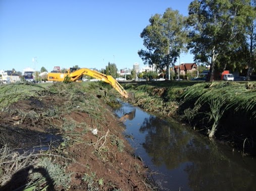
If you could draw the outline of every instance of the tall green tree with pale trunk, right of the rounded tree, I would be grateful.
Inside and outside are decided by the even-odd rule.
[[[214,79],[219,55],[237,49],[245,32],[250,0],[194,0],[189,5],[189,48],[194,59],[211,65],[208,80]]]

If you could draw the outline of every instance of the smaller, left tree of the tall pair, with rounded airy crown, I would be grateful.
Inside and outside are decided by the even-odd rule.
[[[156,14],[149,19],[150,24],[140,34],[146,50],[138,51],[144,64],[156,64],[156,68],[164,69],[176,62],[187,42],[185,20],[171,8],[163,16]]]

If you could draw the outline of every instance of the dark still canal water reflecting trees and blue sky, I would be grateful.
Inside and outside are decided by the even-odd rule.
[[[124,103],[125,135],[161,190],[256,190],[256,161]]]

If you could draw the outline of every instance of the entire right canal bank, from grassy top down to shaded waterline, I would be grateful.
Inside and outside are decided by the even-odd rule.
[[[256,85],[253,82],[133,83],[136,105],[162,116],[178,117],[196,131],[256,154]]]

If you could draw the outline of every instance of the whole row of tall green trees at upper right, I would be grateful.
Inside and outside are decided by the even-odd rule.
[[[140,34],[145,50],[138,54],[144,64],[164,69],[190,51],[196,63],[211,66],[208,80],[225,69],[249,79],[256,66],[255,5],[255,0],[194,0],[188,17],[168,8],[149,19]]]

